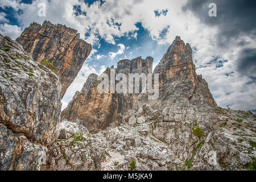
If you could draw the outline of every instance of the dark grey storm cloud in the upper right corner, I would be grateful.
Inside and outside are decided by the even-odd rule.
[[[209,3],[216,3],[217,16],[210,17]],[[183,6],[183,11],[192,11],[201,22],[218,27],[217,45],[221,48],[241,47],[237,57],[237,68],[243,75],[255,74],[255,49],[243,48],[256,39],[256,1],[255,0],[192,0]],[[251,40],[238,40],[241,35]],[[254,68],[254,70],[253,70]]]

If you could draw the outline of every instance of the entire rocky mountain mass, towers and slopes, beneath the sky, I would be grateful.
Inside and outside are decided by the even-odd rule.
[[[159,74],[156,100],[99,93],[92,73],[62,112],[91,46],[50,22],[16,41],[0,36],[1,170],[255,170],[256,115],[217,106],[179,36],[154,71],[137,57],[104,72]]]

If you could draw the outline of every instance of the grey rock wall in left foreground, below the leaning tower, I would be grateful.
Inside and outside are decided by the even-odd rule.
[[[39,169],[58,137],[59,77],[0,35],[0,169]]]

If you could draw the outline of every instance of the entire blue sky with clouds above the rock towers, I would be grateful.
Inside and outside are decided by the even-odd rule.
[[[210,17],[210,2],[2,0],[0,33],[16,39],[30,23],[49,20],[75,28],[92,44],[92,53],[63,98],[63,108],[90,73],[138,56],[153,57],[155,66],[179,35],[191,44],[197,74],[207,80],[218,105],[256,109],[256,27],[250,17],[256,3],[214,0],[217,17]],[[46,16],[38,16],[39,3],[46,5]],[[237,14],[239,7],[243,9]]]

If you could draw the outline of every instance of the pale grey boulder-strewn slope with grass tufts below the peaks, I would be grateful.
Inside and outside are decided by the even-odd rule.
[[[256,125],[255,115],[222,110],[220,115],[242,122],[229,119],[225,126],[217,122],[213,131],[203,128],[201,136],[193,132],[201,126],[196,121],[159,122],[151,119],[151,113],[163,115],[161,110],[129,111],[129,121],[121,125],[115,121],[97,134],[77,130],[68,139],[57,140],[42,169],[129,170],[134,161],[135,170],[245,170],[255,160],[256,135],[250,131]],[[142,118],[143,123],[130,125]],[[242,130],[235,131],[239,123]]]

